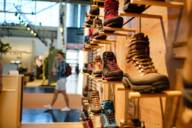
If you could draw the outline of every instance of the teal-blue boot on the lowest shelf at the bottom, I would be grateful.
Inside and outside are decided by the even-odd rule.
[[[106,100],[101,104],[101,123],[103,128],[117,128],[113,101]]]

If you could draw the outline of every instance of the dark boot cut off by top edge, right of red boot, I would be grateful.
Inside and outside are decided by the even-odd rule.
[[[131,13],[142,13],[147,9],[147,6],[145,5],[139,5],[139,4],[131,4],[131,0],[125,0],[123,10],[125,12],[131,12]]]

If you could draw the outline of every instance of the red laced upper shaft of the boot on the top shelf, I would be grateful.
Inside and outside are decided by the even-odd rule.
[[[113,15],[118,16],[118,8],[119,8],[119,2],[117,0],[105,0],[104,3],[105,8],[105,16],[107,15]]]

